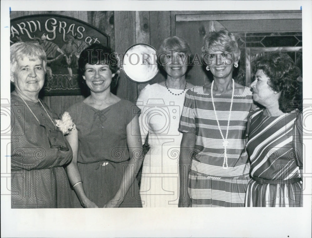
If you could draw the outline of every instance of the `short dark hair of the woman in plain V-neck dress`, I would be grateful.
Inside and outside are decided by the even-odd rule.
[[[83,80],[82,76],[85,74],[86,64],[107,64],[115,76],[111,82],[111,88],[117,85],[119,77],[119,61],[117,54],[107,46],[102,44],[91,44],[89,47],[84,49],[78,59],[78,74],[79,80]]]

